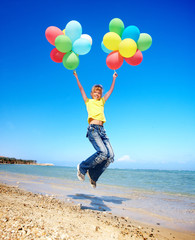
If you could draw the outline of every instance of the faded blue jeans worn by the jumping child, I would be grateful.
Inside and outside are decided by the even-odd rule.
[[[89,175],[97,181],[111,162],[114,162],[114,152],[103,126],[91,124],[87,128],[87,137],[97,151],[80,164],[80,172]]]

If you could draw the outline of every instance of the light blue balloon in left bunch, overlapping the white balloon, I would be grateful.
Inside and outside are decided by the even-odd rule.
[[[79,38],[73,43],[72,50],[79,55],[85,55],[91,50],[91,43],[85,38]]]

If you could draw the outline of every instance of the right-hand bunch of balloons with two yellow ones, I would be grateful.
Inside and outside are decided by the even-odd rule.
[[[147,33],[141,33],[136,26],[124,27],[119,18],[114,18],[109,23],[110,32],[106,33],[101,43],[102,50],[109,53],[106,58],[107,66],[116,70],[125,61],[136,66],[142,62],[142,52],[152,44],[152,38]]]

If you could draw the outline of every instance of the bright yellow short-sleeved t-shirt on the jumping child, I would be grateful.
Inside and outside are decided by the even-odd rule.
[[[105,104],[104,97],[101,98],[100,100],[87,98],[85,104],[88,112],[88,122],[90,118],[100,120],[104,123],[106,122],[106,118],[104,116],[104,104]]]

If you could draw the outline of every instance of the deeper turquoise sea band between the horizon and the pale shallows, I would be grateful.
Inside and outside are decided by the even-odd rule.
[[[77,181],[76,167],[2,164],[0,171]],[[195,197],[195,171],[107,169],[99,183]]]

